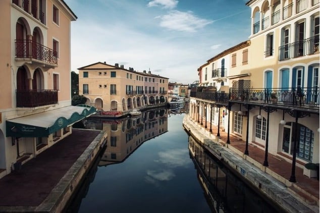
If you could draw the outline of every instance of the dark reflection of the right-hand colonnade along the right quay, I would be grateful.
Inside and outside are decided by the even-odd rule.
[[[189,153],[212,212],[279,212],[189,136]]]

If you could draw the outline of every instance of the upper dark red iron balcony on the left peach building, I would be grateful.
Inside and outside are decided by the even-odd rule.
[[[16,59],[37,60],[57,66],[57,51],[32,40],[16,40]]]

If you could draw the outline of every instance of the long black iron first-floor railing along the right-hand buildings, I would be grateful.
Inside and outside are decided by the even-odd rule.
[[[290,88],[230,88],[229,93],[220,92],[190,92],[190,97],[216,102],[245,101],[270,104],[293,105],[299,107],[319,106],[319,87]]]

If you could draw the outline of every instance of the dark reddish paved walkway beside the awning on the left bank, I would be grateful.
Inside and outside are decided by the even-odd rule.
[[[4,206],[38,206],[99,133],[72,129],[71,135],[22,165],[20,171],[0,179],[0,211]]]

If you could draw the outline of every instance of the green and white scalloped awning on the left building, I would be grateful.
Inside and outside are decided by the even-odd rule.
[[[87,105],[68,106],[6,121],[7,137],[48,137],[62,128],[95,113],[96,109]]]

